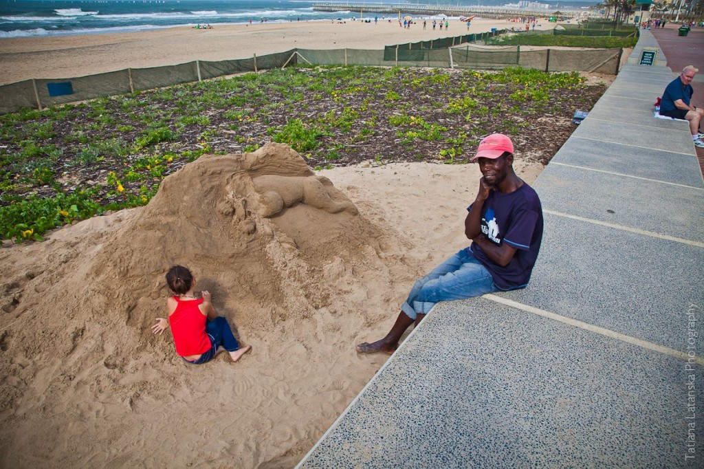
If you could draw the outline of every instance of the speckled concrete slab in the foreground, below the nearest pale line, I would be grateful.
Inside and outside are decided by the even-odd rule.
[[[494,301],[441,304],[298,467],[684,468],[683,374]]]

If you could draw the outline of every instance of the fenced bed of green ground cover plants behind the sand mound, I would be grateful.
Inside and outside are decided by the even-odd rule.
[[[593,39],[593,38],[589,38]],[[605,85],[577,73],[292,67],[0,116],[0,237],[144,205],[203,154],[284,142],[312,168],[467,163],[491,132],[543,163]]]

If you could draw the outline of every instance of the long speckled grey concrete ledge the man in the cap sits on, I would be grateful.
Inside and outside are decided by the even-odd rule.
[[[672,77],[624,66],[534,185],[529,287],[437,306],[298,467],[704,467],[704,182],[653,118]]]

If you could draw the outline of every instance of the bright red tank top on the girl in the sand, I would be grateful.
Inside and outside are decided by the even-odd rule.
[[[179,356],[204,354],[213,346],[206,334],[206,315],[198,308],[204,300],[182,300],[178,296],[174,299],[178,304],[169,316],[169,325],[176,353]]]

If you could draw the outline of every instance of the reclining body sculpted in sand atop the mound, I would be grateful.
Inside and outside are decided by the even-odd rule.
[[[327,177],[261,175],[252,182],[260,194],[260,214],[266,218],[296,204],[307,204],[327,213],[358,213],[352,202],[332,199],[327,187],[333,190],[334,187]]]

